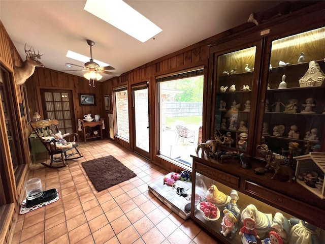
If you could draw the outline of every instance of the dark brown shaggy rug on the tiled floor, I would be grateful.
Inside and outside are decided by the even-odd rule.
[[[98,192],[137,176],[113,156],[90,160],[81,165]]]

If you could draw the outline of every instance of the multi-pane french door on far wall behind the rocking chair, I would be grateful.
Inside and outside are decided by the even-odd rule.
[[[57,119],[63,133],[76,132],[71,90],[41,89],[44,119]]]

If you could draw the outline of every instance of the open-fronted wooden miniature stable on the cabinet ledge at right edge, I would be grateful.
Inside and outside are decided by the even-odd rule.
[[[325,153],[309,153],[297,160],[297,182],[321,199],[325,199]],[[307,177],[311,175],[311,177]]]

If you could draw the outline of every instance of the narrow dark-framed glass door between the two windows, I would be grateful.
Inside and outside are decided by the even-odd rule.
[[[150,159],[148,84],[142,83],[132,86],[132,94],[135,121],[134,151]]]

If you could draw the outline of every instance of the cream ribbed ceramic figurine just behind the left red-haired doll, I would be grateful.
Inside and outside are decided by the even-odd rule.
[[[264,236],[270,230],[272,214],[265,214],[259,211],[255,205],[250,204],[241,213],[242,220],[245,220],[247,217],[255,220],[255,230],[258,235]]]

